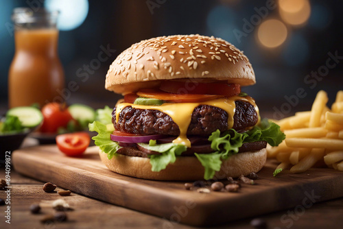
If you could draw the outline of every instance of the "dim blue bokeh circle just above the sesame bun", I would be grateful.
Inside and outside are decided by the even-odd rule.
[[[237,27],[235,21],[236,14],[233,10],[224,5],[218,5],[211,9],[206,23],[213,36],[228,40],[233,45],[239,45],[233,34],[233,30]]]

